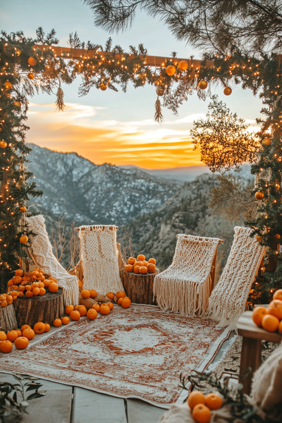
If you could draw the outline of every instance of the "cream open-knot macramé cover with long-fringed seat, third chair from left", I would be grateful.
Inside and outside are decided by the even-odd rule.
[[[154,279],[153,293],[162,310],[183,316],[205,315],[219,242],[219,238],[177,235],[172,264]]]

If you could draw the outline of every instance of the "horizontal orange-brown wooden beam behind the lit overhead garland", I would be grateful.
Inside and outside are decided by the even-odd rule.
[[[97,57],[103,58],[106,55],[106,52],[96,52],[95,50],[85,50],[85,49],[71,49],[70,47],[50,47],[50,46],[44,46],[44,45],[39,45],[36,44],[33,49],[39,48],[41,50],[52,50],[52,52],[54,52],[55,57],[64,57],[66,59],[90,59],[91,57],[93,57],[94,55],[96,55]],[[131,55],[133,58],[135,57],[134,55]],[[115,54],[115,59],[119,60],[120,58],[122,58],[123,55],[116,53]],[[142,56],[140,55],[140,58],[142,58]],[[197,69],[200,68],[200,63],[201,60],[196,60],[196,59],[185,59],[185,58],[169,58],[170,61],[172,62],[172,64],[176,64],[179,63],[181,60],[186,60],[186,62],[188,62],[189,66],[193,66],[193,68]],[[162,57],[162,56],[146,56],[146,62],[144,62],[144,64],[146,64],[147,66],[156,66],[156,67],[165,67],[166,66],[166,61],[167,58],[166,57]],[[207,60],[207,66],[212,67],[214,64],[214,60]]]

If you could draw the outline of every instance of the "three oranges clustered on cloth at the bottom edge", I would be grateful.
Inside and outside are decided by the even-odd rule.
[[[222,406],[222,399],[215,393],[204,396],[200,391],[192,391],[187,401],[197,423],[208,423],[211,420],[211,410],[218,410]]]

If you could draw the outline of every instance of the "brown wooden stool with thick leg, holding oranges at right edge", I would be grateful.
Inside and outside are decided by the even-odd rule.
[[[238,320],[238,335],[243,336],[239,382],[243,385],[243,393],[251,392],[252,377],[257,368],[261,365],[261,341],[281,342],[282,335],[277,332],[268,332],[268,330],[258,327],[252,321],[252,311],[245,311]],[[241,377],[247,369],[251,371],[247,377]]]

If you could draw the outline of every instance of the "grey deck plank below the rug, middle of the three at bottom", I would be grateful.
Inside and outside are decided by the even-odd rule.
[[[72,423],[127,423],[124,400],[74,387]]]

